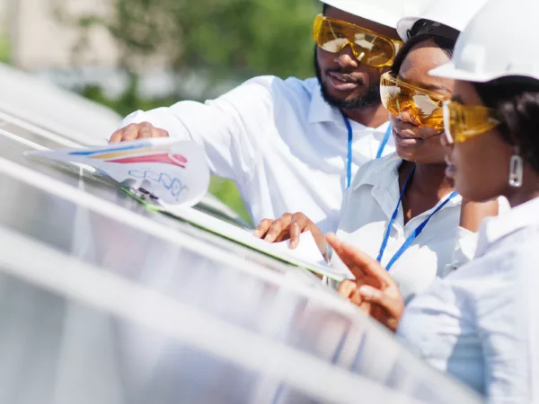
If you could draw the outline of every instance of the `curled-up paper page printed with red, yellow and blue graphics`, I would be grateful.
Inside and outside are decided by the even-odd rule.
[[[120,184],[146,189],[172,205],[194,206],[208,192],[208,159],[204,150],[191,141],[155,138],[24,155],[89,165]]]

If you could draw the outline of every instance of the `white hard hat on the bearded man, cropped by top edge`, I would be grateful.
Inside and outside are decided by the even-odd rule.
[[[391,28],[405,15],[415,15],[432,0],[322,0],[344,12]]]

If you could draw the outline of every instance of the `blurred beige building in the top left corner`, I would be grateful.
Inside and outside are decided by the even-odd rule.
[[[84,49],[77,27],[58,19],[64,15],[110,13],[112,0],[0,0],[1,29],[9,41],[10,63],[53,83],[74,89],[85,83],[101,83],[111,93],[120,92],[125,79],[116,73],[119,50],[102,27],[89,31]]]

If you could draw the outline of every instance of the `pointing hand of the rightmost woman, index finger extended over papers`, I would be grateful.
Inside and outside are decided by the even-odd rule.
[[[356,279],[339,285],[340,295],[356,304],[363,312],[395,331],[404,312],[399,286],[376,259],[340,242],[334,234],[327,241]]]

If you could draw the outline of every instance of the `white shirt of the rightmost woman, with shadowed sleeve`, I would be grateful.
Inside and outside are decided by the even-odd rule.
[[[406,308],[398,334],[490,403],[539,402],[539,198],[483,222],[476,257]]]

